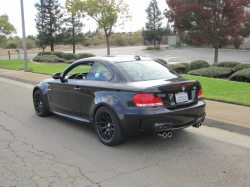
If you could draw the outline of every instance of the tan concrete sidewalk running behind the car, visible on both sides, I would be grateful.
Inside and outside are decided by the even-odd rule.
[[[0,77],[37,84],[51,75],[0,68]],[[205,125],[250,135],[250,107],[206,100]]]

